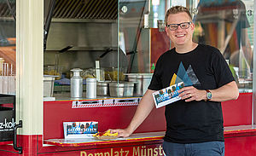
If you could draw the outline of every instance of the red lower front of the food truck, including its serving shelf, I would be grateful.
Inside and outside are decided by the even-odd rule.
[[[129,99],[129,98],[128,98]],[[44,136],[20,136],[24,155],[113,156],[163,155],[161,143],[166,130],[164,108],[154,109],[131,138],[115,141],[63,140],[64,121],[98,121],[99,131],[125,128],[140,98],[44,102]],[[90,102],[89,102],[90,103]],[[224,112],[225,156],[252,156],[256,153],[256,130],[252,123],[252,94],[222,103]],[[19,155],[11,145],[1,145],[0,155]]]

